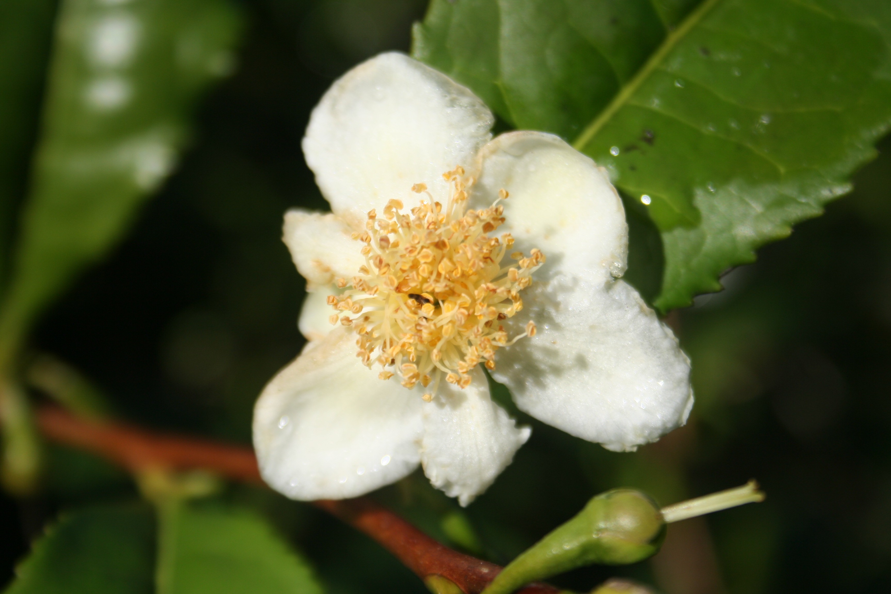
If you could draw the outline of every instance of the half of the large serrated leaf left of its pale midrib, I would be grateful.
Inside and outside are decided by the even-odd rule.
[[[413,55],[513,126],[573,138],[695,0],[433,0]]]

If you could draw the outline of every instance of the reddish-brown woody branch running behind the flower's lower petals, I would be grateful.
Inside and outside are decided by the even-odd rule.
[[[49,439],[98,454],[132,473],[148,468],[200,468],[236,481],[263,484],[257,459],[249,448],[83,419],[54,406],[37,411],[37,425]],[[454,582],[465,594],[478,594],[502,569],[449,549],[366,497],[313,504],[371,536],[422,580],[438,575]],[[536,583],[518,594],[559,592],[547,584]]]

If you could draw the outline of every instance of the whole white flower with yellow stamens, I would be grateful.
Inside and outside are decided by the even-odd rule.
[[[491,140],[493,121],[399,53],[313,111],[303,150],[333,214],[285,216],[310,342],[257,402],[274,489],[354,497],[421,463],[467,505],[530,433],[492,402],[482,363],[520,410],[610,450],[687,419],[687,358],[617,280],[627,225],[607,175],[551,134]]]

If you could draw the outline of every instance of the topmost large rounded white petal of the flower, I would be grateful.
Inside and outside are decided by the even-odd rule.
[[[382,53],[331,85],[303,152],[331,210],[364,221],[389,199],[416,204],[414,183],[445,201],[442,174],[472,167],[493,122],[466,87],[404,54]]]

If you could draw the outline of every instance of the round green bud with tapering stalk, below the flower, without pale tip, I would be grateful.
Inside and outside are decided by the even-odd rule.
[[[483,590],[509,594],[523,584],[594,563],[625,565],[656,554],[666,523],[656,503],[633,489],[601,493],[581,512],[514,559]]]

